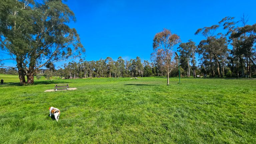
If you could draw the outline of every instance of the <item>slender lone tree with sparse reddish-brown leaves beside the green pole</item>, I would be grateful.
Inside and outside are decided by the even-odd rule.
[[[180,37],[172,34],[170,30],[163,29],[155,35],[153,39],[153,50],[151,54],[153,60],[161,63],[167,73],[167,85],[169,85],[169,73],[173,70],[175,63],[172,60],[173,47],[181,42]]]

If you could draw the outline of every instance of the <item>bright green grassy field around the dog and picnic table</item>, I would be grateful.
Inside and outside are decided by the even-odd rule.
[[[0,75],[0,143],[256,143],[256,80]],[[77,90],[44,92],[54,83]],[[59,122],[48,107],[60,109]]]

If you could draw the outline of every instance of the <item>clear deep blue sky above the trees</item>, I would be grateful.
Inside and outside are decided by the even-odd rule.
[[[161,0],[69,0],[66,3],[75,13],[76,28],[86,49],[87,61],[111,57],[117,60],[150,60],[152,40],[163,28],[197,44],[203,39],[195,36],[198,28],[212,26],[226,16],[240,20],[249,16],[248,24],[256,21],[256,1],[161,1]],[[56,63],[56,67],[68,62]],[[6,63],[14,65],[11,62]]]

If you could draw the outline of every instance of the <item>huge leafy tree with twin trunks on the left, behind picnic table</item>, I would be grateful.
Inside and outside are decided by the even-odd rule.
[[[1,50],[15,60],[20,83],[48,63],[79,57],[84,48],[67,23],[74,13],[60,0],[4,0],[0,12]]]

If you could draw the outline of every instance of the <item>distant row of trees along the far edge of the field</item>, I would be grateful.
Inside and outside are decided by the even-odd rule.
[[[56,75],[64,78],[148,77],[164,75],[161,69],[148,61],[142,62],[140,57],[130,61],[123,60],[122,57],[119,57],[117,61],[110,57],[98,61],[84,61],[80,59],[79,62],[72,61],[59,67],[58,70],[52,70]]]

